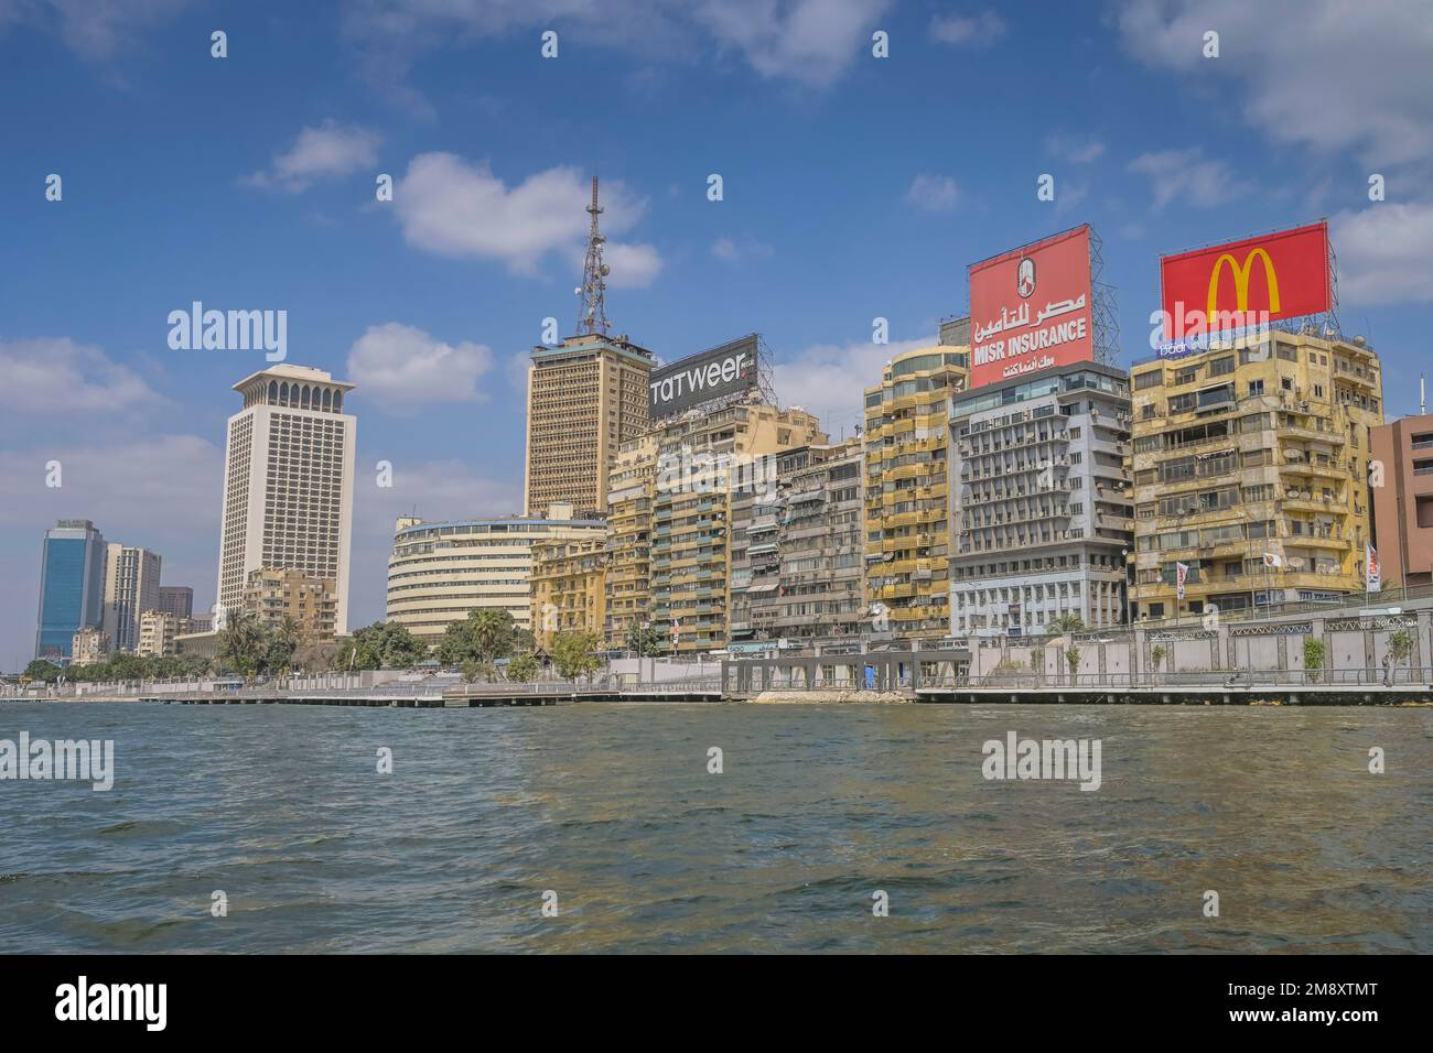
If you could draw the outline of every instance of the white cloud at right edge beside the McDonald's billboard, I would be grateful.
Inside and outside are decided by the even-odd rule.
[[[1433,301],[1433,203],[1379,203],[1330,221],[1340,304]]]

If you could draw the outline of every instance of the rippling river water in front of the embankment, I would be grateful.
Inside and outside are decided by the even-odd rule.
[[[1010,729],[1102,739],[1102,788],[986,782]],[[0,782],[10,951],[1433,951],[1420,709],[0,705],[20,731],[118,776]]]

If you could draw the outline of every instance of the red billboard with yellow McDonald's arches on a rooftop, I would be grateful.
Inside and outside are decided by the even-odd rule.
[[[1330,309],[1328,223],[1159,258],[1165,335],[1242,330]]]

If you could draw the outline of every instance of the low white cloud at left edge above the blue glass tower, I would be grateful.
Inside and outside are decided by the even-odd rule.
[[[6,411],[0,417],[56,413],[123,414],[165,403],[138,374],[102,350],[69,337],[0,341]]]

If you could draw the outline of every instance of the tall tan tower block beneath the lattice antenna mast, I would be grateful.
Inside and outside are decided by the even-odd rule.
[[[648,430],[655,358],[626,337],[583,334],[539,345],[527,367],[527,461],[523,507],[537,516],[570,504],[606,511],[618,447]]]

